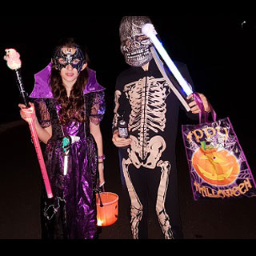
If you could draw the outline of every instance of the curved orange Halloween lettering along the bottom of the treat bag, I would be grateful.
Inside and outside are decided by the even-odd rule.
[[[200,186],[198,182],[194,182],[194,186],[196,191],[199,194],[202,194],[203,198],[236,198],[242,194],[246,194],[252,188],[249,178],[246,178],[238,186],[233,186],[232,188],[226,190],[210,189],[206,186]]]

